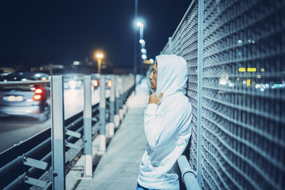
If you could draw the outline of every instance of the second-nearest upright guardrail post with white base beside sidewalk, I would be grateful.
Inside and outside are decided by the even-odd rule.
[[[84,154],[85,154],[85,168],[84,176],[92,177],[92,100],[91,100],[91,76],[84,76]]]

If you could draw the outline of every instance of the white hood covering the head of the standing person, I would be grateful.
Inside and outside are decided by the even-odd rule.
[[[162,92],[162,98],[165,98],[182,92],[188,75],[186,60],[174,54],[156,56],[155,60],[157,63],[156,95]]]

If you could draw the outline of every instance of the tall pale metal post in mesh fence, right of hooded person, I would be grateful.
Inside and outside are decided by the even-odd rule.
[[[204,0],[198,2],[198,67],[197,67],[197,181],[202,185],[202,84],[203,84],[203,31],[204,31]]]

